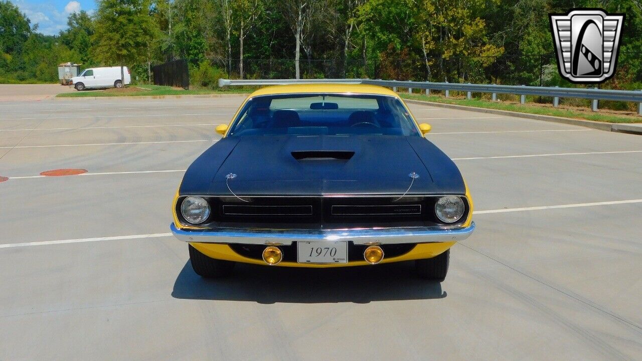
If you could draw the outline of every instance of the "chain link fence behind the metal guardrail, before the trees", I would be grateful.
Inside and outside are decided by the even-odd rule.
[[[642,84],[642,53],[622,53],[616,76],[605,86],[614,89],[638,89]],[[193,82],[203,78],[241,78],[238,59],[189,60]],[[300,78],[370,78],[383,80],[413,80],[473,84],[571,86],[557,70],[554,54],[532,56],[502,55],[501,57],[380,57],[363,59],[302,58]],[[209,69],[207,69],[209,68]],[[216,76],[214,76],[214,73]],[[293,79],[295,60],[243,60],[245,79]],[[214,84],[212,80],[205,80]],[[637,84],[637,87],[636,87]],[[197,84],[198,85],[198,84]]]

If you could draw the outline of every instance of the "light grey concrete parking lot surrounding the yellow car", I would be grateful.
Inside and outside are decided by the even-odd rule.
[[[475,202],[446,281],[206,281],[170,204],[242,100],[0,103],[0,360],[642,359],[642,136],[410,105]]]

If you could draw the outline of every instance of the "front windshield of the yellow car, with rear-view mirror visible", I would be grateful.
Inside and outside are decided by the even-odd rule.
[[[228,136],[270,134],[419,136],[419,131],[393,96],[282,94],[247,101]]]

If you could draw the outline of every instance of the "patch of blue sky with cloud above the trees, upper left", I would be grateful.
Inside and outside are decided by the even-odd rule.
[[[38,31],[56,35],[67,28],[69,13],[85,10],[92,12],[94,0],[10,0],[26,13],[31,24],[39,24]]]

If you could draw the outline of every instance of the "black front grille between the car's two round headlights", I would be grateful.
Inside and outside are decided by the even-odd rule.
[[[349,229],[442,227],[435,215],[436,196],[364,197],[206,197],[211,215],[202,226],[230,228]],[[180,217],[180,200],[177,215]],[[456,224],[465,221],[469,211]]]

